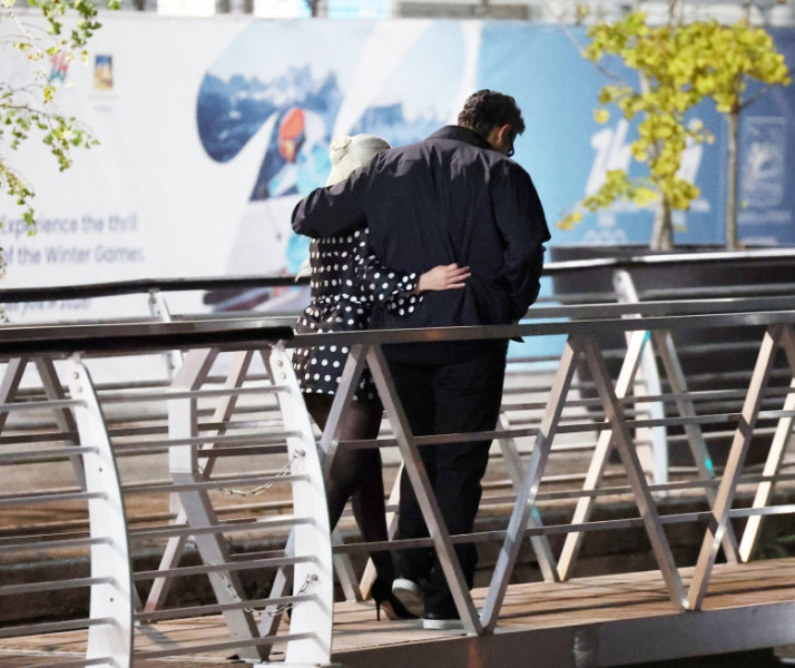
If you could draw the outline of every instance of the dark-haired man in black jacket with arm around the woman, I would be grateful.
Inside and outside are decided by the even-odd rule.
[[[528,173],[509,159],[524,131],[512,97],[472,95],[457,126],[376,155],[345,181],[298,203],[293,228],[327,237],[367,226],[385,267],[421,274],[438,265],[469,266],[463,289],[406,295],[403,308],[376,308],[371,328],[510,324],[536,301],[550,238]],[[414,435],[480,432],[497,425],[507,341],[393,344],[384,354]],[[490,441],[421,448],[421,456],[451,534],[472,530]],[[408,475],[401,479],[399,538],[428,528]],[[470,588],[478,559],[455,548]],[[395,593],[424,600],[425,628],[451,628],[458,611],[433,550],[399,554]],[[414,583],[419,583],[415,588]]]

